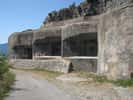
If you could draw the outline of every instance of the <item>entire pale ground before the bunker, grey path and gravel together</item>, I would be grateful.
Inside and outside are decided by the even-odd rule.
[[[17,81],[6,100],[133,100],[133,88],[79,82],[79,78],[73,82],[77,80],[73,74],[61,76],[65,80],[47,81],[36,73],[15,73]]]

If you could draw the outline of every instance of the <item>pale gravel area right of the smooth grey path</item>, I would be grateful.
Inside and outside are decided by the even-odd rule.
[[[62,84],[61,82],[54,83],[71,95],[78,95],[81,100],[133,100],[133,87],[124,88],[111,83],[94,83],[90,79],[87,82],[81,79],[83,81],[79,82],[79,78],[74,78],[76,75],[73,74],[60,77],[65,78],[65,80],[61,79]],[[78,81],[75,82],[73,79],[78,79]]]

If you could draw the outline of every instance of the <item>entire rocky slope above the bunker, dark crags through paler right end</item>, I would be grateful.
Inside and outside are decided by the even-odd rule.
[[[43,24],[81,16],[93,16],[131,2],[133,0],[84,0],[78,6],[73,3],[68,8],[50,12]]]

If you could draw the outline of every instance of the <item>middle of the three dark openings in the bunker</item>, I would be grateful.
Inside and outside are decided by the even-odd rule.
[[[33,52],[35,57],[61,56],[61,37],[36,40]]]

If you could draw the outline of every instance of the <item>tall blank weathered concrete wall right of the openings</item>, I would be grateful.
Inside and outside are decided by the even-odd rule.
[[[98,72],[110,79],[129,78],[133,72],[133,6],[100,17]]]

